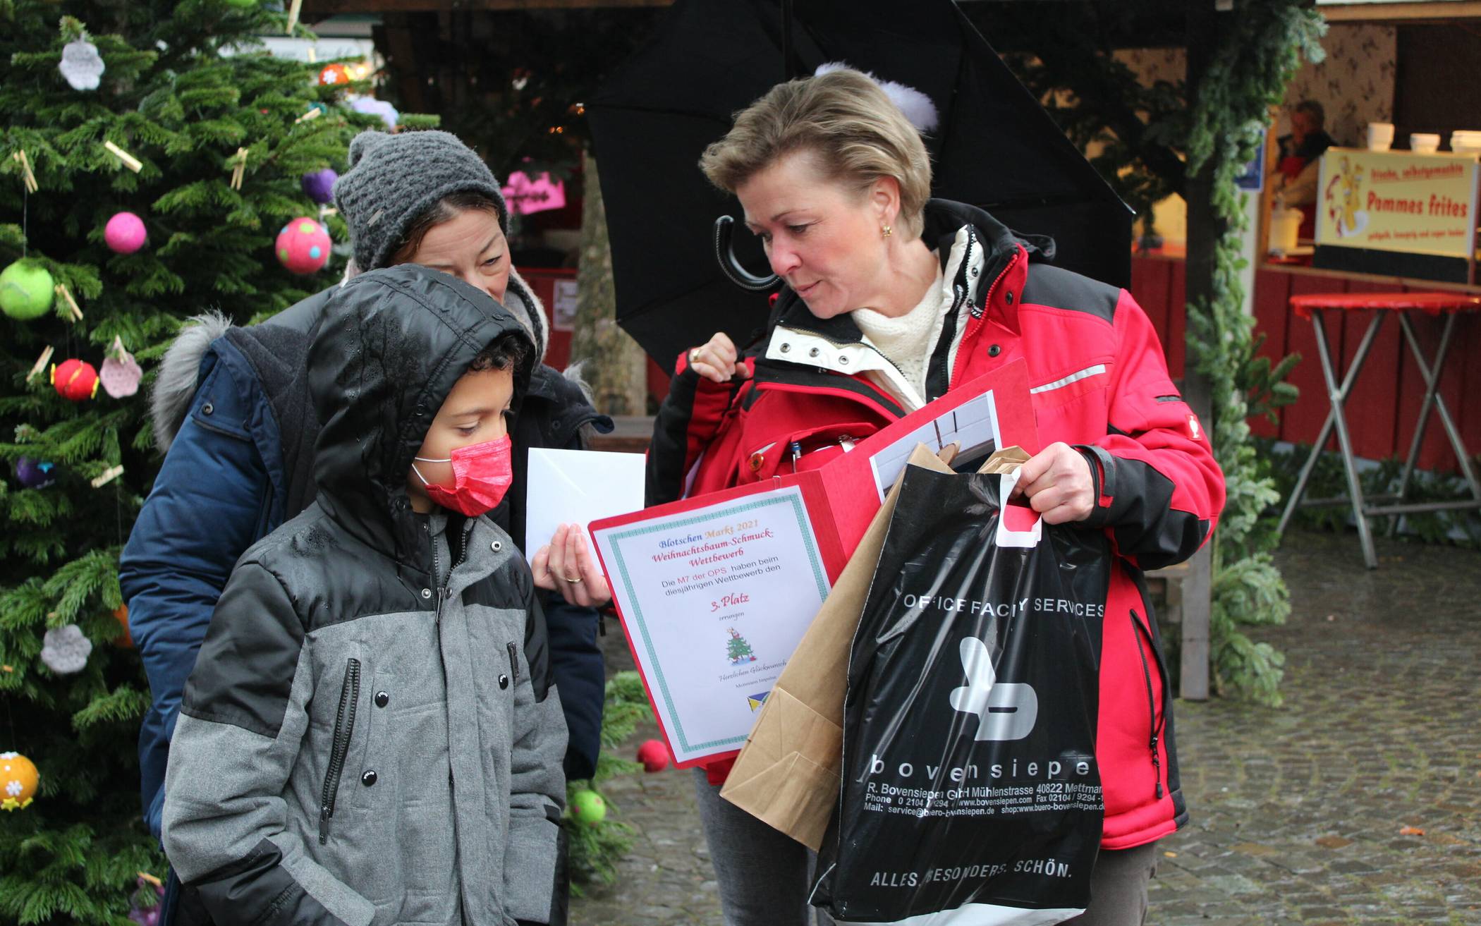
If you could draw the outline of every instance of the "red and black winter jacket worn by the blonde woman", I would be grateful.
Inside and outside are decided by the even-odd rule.
[[[1086,526],[1106,530],[1121,563],[1112,570],[1100,655],[1102,845],[1152,842],[1186,822],[1188,812],[1171,689],[1142,570],[1182,562],[1203,545],[1223,507],[1223,474],[1130,293],[1031,261],[1031,250],[1038,256],[1032,244],[972,206],[932,200],[924,240],[939,244],[943,264],[954,244],[966,243],[926,400],[1023,359],[1041,446],[1065,442],[1091,462],[1097,505]],[[655,422],[647,502],[769,479],[783,459],[791,465],[794,442],[803,452],[797,468],[818,467],[900,418],[909,409],[897,399],[846,372],[862,342],[847,314],[819,320],[783,289],[766,335],[746,350],[748,379],[717,384],[680,357]],[[709,772],[711,781],[723,779],[729,762]]]

